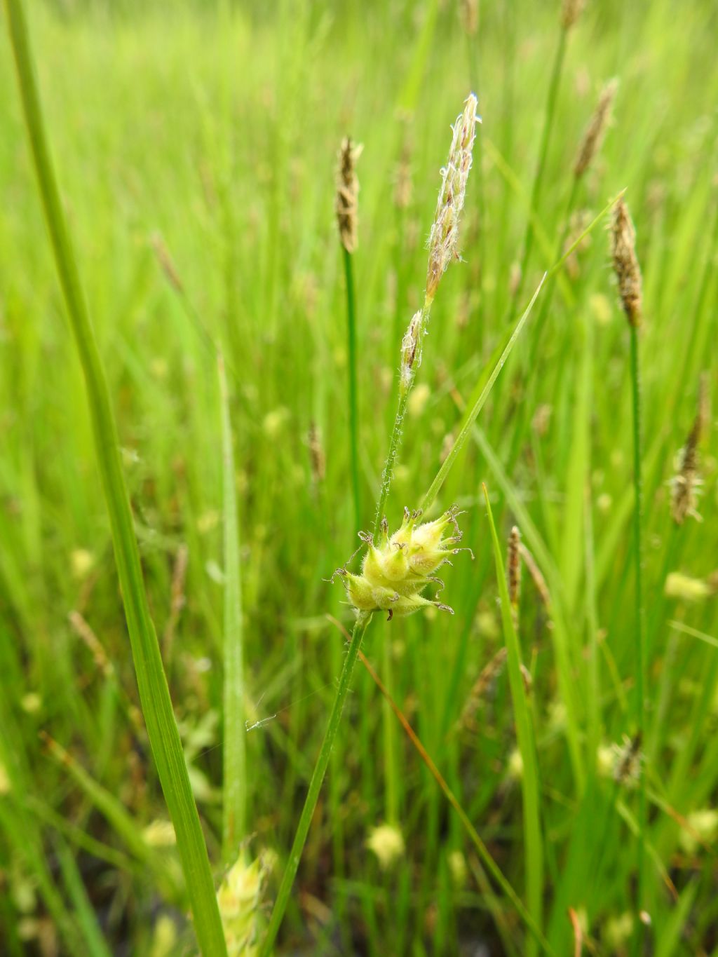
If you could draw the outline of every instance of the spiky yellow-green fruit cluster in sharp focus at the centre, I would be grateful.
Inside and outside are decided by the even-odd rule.
[[[436,598],[425,598],[421,592],[430,584],[443,587],[436,571],[449,562],[449,555],[470,549],[457,545],[461,539],[457,508],[450,508],[434,522],[418,523],[421,512],[404,509],[404,521],[390,537],[386,519],[382,523],[380,541],[361,533],[367,545],[360,575],[338,568],[344,579],[347,596],[358,612],[389,612],[406,617],[422,608],[438,608],[454,613]],[[448,535],[446,534],[448,532]]]

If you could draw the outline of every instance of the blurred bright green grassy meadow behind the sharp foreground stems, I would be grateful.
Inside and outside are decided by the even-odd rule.
[[[326,579],[360,545],[334,218],[341,140],[363,145],[353,266],[364,528],[388,448],[401,337],[422,300],[439,168],[468,93],[477,93],[483,122],[462,261],[434,305],[394,470],[392,528],[404,505],[423,497],[562,237],[575,238],[626,189],[644,295],[647,720],[634,762],[647,792],[642,952],[718,954],[712,411],[699,446],[702,521],[677,526],[670,514],[701,375],[709,408],[718,373],[718,9],[595,0],[562,31],[560,4],[527,0],[485,2],[476,24],[471,5],[451,0],[26,7],[217,882],[228,862],[220,853],[227,578],[216,345],[224,353],[250,728],[244,850],[265,861],[260,930],[345,654],[327,614],[352,622],[341,584]],[[187,890],[137,710],[87,398],[6,16],[0,951],[190,954]],[[611,78],[613,121],[574,189],[582,131]],[[531,254],[512,304],[527,223]],[[518,631],[538,756],[543,929],[560,955],[639,952],[638,789],[630,774],[615,779],[612,750],[636,731],[636,612],[629,329],[607,223],[598,221],[544,287],[440,492],[432,517],[459,504],[462,544],[475,556],[443,569],[441,600],[455,614],[391,623],[375,615],[364,643],[524,899],[523,770],[508,677],[495,660],[504,637],[485,482],[500,538],[519,526],[550,596],[547,605],[524,568]],[[387,821],[404,847],[383,866],[368,840]],[[527,942],[515,906],[487,877],[359,664],[277,952],[537,952]]]

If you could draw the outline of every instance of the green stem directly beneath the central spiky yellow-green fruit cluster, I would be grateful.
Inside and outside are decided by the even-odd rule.
[[[351,675],[354,671],[354,665],[356,664],[356,659],[359,655],[362,638],[367,630],[370,618],[370,614],[363,614],[360,615],[354,623],[354,629],[351,633],[351,641],[349,642],[348,646],[347,657],[344,659],[344,667],[342,668],[342,673],[339,676],[337,693],[334,698],[334,703],[331,706],[329,721],[326,724],[324,741],[322,742],[322,747],[319,751],[319,757],[317,758],[317,763],[314,766],[314,771],[312,772],[311,781],[309,782],[309,790],[306,792],[302,816],[300,817],[300,821],[297,826],[297,833],[294,835],[292,849],[289,852],[289,859],[286,862],[286,867],[284,868],[284,873],[281,877],[280,889],[277,892],[277,900],[275,901],[274,908],[272,910],[272,916],[269,919],[267,933],[259,951],[261,957],[267,957],[267,955],[272,952],[272,946],[277,939],[277,933],[280,929],[281,920],[284,916],[284,911],[286,910],[286,906],[289,901],[289,895],[292,891],[292,884],[297,876],[297,870],[299,868],[300,858],[302,857],[306,835],[309,833],[309,825],[311,824],[314,811],[317,807],[319,792],[322,789],[322,782],[325,778],[326,766],[329,763],[329,755],[331,754],[331,749],[334,745],[334,739],[336,738],[337,731],[339,729],[342,712],[344,711],[344,702],[347,700],[349,685],[351,683]]]

